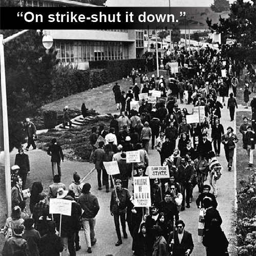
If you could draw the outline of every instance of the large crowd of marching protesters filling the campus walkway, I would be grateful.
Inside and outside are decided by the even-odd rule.
[[[110,188],[114,188],[110,196],[110,214],[114,218],[116,246],[120,246],[122,239],[128,237],[127,223],[133,238],[132,250],[135,256],[191,254],[194,249],[193,237],[184,229],[185,223],[180,219],[180,212],[189,210],[193,190],[198,186],[200,195],[196,205],[203,210],[200,221],[204,226],[199,236],[203,237],[206,254],[225,255],[228,240],[221,229],[222,218],[217,210],[216,199],[217,182],[225,167],[222,167],[218,157],[225,154],[227,170],[230,172],[238,138],[231,126],[224,129],[221,110],[226,106],[230,121],[234,120],[235,109],[238,108],[236,89],[244,63],[222,59],[217,51],[210,48],[202,48],[191,55],[181,51],[177,58],[180,60],[179,73],[174,74],[170,66],[167,66],[168,79],[164,79],[164,76],[155,79],[154,75],[148,78],[146,74],[133,69],[130,73],[133,86],[127,92],[121,91],[119,84],[115,84],[113,94],[120,115],[114,115],[109,126],[100,125],[98,131],[96,126],[92,127],[89,138],[92,145],[90,160],[97,170],[98,189],[102,190],[102,186],[105,186],[105,192],[109,193]],[[244,95],[248,96],[248,102],[248,89],[251,87],[253,91],[255,72],[250,65],[247,65],[247,70],[248,84],[246,82]],[[140,87],[136,83],[138,79]],[[230,88],[233,93],[229,94]],[[144,98],[140,100],[140,93],[150,95],[153,90],[161,92],[161,97],[155,104],[148,103]],[[131,107],[134,100],[139,101],[138,109]],[[188,113],[186,108],[179,108],[179,104],[184,102],[192,103],[194,109],[203,107],[204,119],[188,123],[188,116],[194,113]],[[256,97],[251,101],[251,108],[252,125],[248,124],[248,118],[245,117],[240,126],[243,148],[248,153],[250,167],[253,165],[256,142]],[[33,145],[31,140],[28,141],[28,147],[30,144]],[[224,152],[221,152],[221,144],[224,145]],[[167,166],[169,178],[151,179],[152,206],[135,207],[130,189],[133,185],[132,178],[148,175],[150,146],[152,150],[159,152],[158,165]],[[126,153],[129,151],[138,151],[140,161],[127,163]],[[52,156],[54,182],[49,186],[48,194],[43,192],[40,182],[33,183],[30,216],[25,210],[26,198],[22,191],[24,183],[26,184],[26,174],[30,172],[29,159],[22,149],[18,151],[17,161],[12,166],[13,211],[4,227],[7,238],[4,256],[14,255],[8,251],[15,246],[19,246],[17,250],[24,250],[24,255],[59,255],[61,251],[62,255],[66,255],[67,251],[71,256],[76,255],[76,251],[81,248],[81,226],[88,253],[92,252],[92,246],[97,242],[94,226],[100,206],[97,197],[90,193],[91,185],[82,183],[77,173],[74,173],[74,181],[69,186],[61,183],[60,161],[63,160],[63,153],[56,139],[52,140],[48,154]],[[55,154],[57,158],[54,157]],[[117,161],[119,174],[109,176],[106,172],[103,162],[111,161]],[[56,164],[57,175],[54,173]],[[208,177],[210,185],[205,184]],[[60,216],[49,214],[49,200],[54,198],[72,201],[71,216],[62,216],[61,230]],[[14,240],[19,242],[13,242]]]

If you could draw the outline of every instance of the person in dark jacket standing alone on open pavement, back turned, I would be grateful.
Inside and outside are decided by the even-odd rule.
[[[58,175],[61,176],[60,160],[64,161],[64,156],[61,146],[57,143],[57,139],[53,138],[51,140],[51,145],[48,148],[47,154],[51,156],[52,162],[52,177],[54,177],[54,172],[57,164]]]

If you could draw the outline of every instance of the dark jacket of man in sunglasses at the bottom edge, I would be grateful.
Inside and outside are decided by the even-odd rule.
[[[190,254],[194,249],[194,243],[192,239],[192,234],[184,230],[183,238],[181,243],[179,242],[178,232],[175,230],[174,232],[170,232],[170,236],[168,239],[168,244],[172,241],[174,237],[174,246],[173,246],[173,256],[181,256],[185,255],[187,249],[190,249]]]

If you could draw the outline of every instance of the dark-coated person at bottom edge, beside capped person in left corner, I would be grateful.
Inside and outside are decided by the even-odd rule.
[[[23,238],[28,242],[29,252],[32,256],[39,256],[39,242],[41,239],[39,231],[33,228],[34,220],[27,219],[24,222],[25,230]]]

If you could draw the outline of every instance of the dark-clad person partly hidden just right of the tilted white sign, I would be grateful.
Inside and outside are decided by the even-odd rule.
[[[114,176],[122,181],[122,187],[128,188],[129,177],[132,174],[132,163],[126,163],[126,153],[122,152],[121,159],[117,161],[120,174]]]

